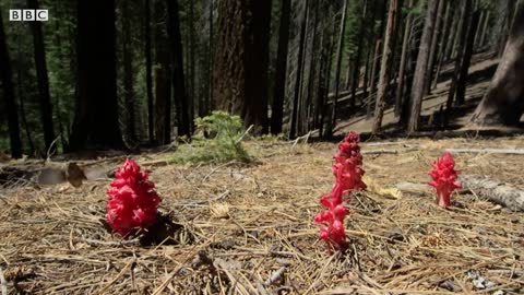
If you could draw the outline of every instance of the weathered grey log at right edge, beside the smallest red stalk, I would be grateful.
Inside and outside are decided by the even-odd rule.
[[[462,175],[464,188],[512,211],[524,211],[524,191],[477,175]]]

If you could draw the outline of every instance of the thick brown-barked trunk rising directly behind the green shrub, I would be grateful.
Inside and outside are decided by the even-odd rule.
[[[255,133],[267,131],[271,1],[218,3],[213,97],[218,109],[240,115]]]

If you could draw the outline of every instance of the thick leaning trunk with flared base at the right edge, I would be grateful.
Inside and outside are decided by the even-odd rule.
[[[475,110],[476,126],[514,126],[524,113],[524,7],[516,12],[499,68],[491,85]]]

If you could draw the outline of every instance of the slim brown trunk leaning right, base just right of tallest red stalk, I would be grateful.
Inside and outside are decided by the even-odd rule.
[[[374,111],[374,122],[371,130],[372,134],[381,131],[382,118],[385,109],[385,96],[391,83],[391,67],[393,64],[393,51],[396,44],[397,25],[402,0],[390,1],[390,12],[388,16],[388,26],[384,36],[384,50],[382,51],[382,66],[380,67],[379,88],[377,91],[377,104]]]

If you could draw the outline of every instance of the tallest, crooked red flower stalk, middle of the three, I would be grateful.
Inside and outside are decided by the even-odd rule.
[[[327,210],[314,216],[314,222],[322,224],[320,238],[323,239],[330,252],[344,251],[347,248],[347,238],[344,231],[344,217],[349,213],[345,206],[344,197],[353,191],[366,189],[362,182],[362,155],[358,143],[360,138],[354,131],[338,144],[338,151],[333,158],[333,175],[335,185],[329,196],[320,197],[320,203]]]

